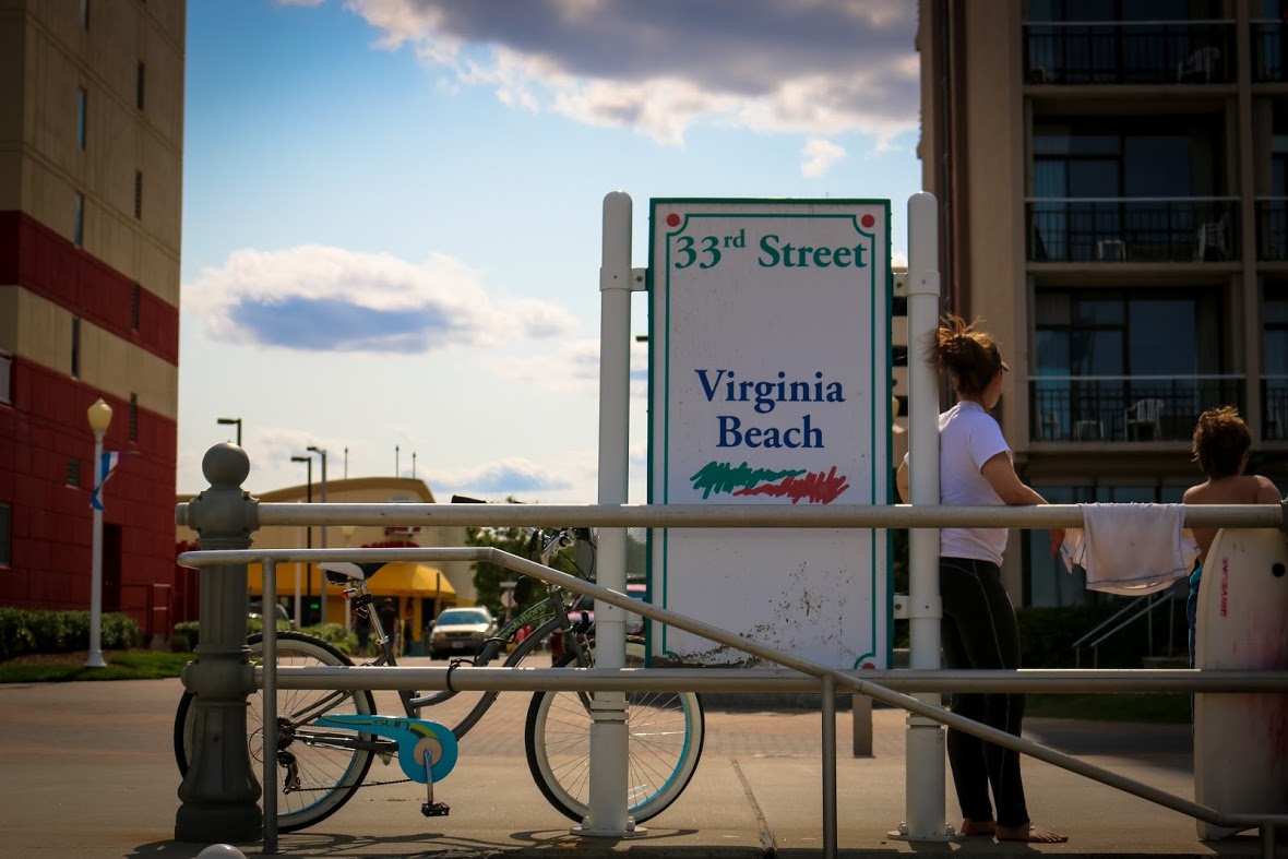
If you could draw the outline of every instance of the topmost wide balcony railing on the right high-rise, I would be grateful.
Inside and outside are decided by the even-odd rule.
[[[1027,84],[1230,84],[1233,21],[1030,22]]]

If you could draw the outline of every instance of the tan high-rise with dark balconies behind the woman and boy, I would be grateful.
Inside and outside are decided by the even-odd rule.
[[[1001,340],[998,419],[1052,502],[1180,501],[1195,419],[1222,404],[1252,470],[1288,482],[1279,6],[920,3],[943,307]],[[1012,595],[1090,599],[1047,555],[1046,532],[1012,533]]]

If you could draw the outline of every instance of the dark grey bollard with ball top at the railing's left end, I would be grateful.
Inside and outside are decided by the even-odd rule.
[[[250,458],[236,444],[206,451],[210,488],[188,502],[188,525],[201,549],[249,549],[259,501],[241,488]],[[255,675],[246,647],[246,564],[201,571],[201,643],[183,672],[193,701],[188,773],[179,786],[175,841],[246,842],[263,836],[259,779],[246,748],[246,698]]]

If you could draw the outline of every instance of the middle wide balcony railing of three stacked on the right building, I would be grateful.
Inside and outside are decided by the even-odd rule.
[[[1030,263],[1239,258],[1234,197],[1030,197],[1025,212]]]

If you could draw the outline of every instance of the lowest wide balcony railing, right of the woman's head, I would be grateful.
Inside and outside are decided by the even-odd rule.
[[[1288,406],[1288,377],[1283,379]],[[1199,413],[1243,408],[1243,376],[1036,376],[1034,442],[1189,442]],[[1288,412],[1285,412],[1288,415]]]

